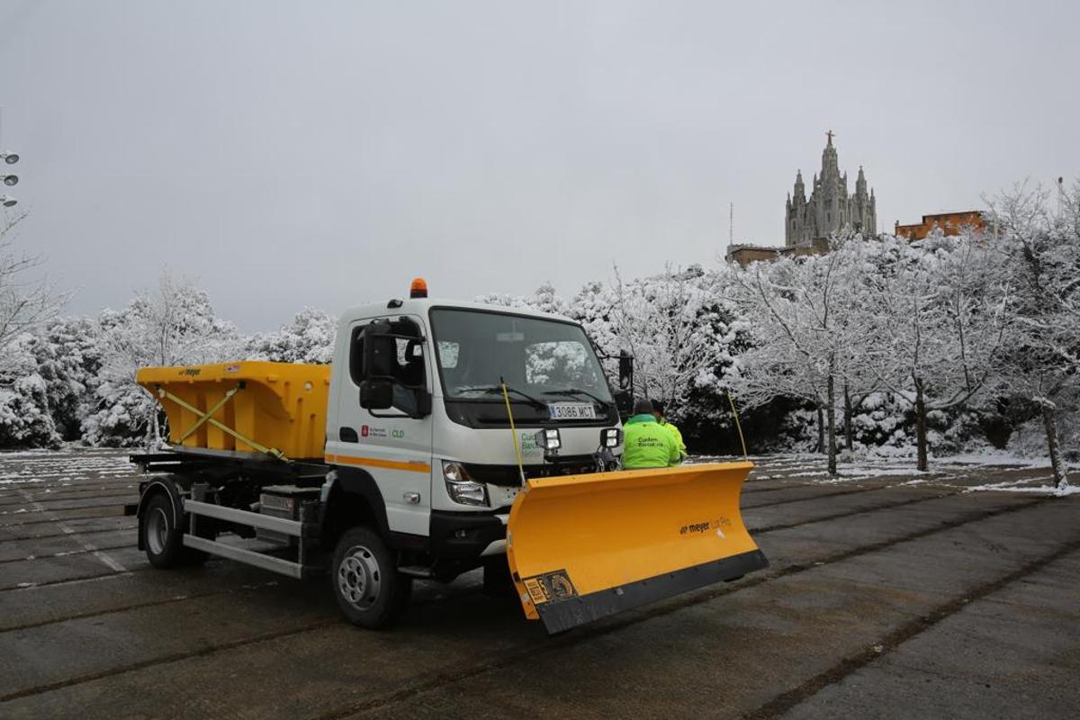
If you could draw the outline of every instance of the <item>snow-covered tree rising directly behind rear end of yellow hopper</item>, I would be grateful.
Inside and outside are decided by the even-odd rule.
[[[139,293],[100,318],[102,371],[95,411],[83,421],[91,445],[129,446],[161,437],[157,402],[135,384],[140,367],[200,365],[243,355],[237,328],[214,313],[210,296],[163,273],[156,293]]]

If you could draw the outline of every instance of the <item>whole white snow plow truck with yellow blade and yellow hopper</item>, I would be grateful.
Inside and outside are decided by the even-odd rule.
[[[138,546],[157,568],[328,575],[367,628],[414,581],[478,568],[552,634],[764,568],[739,508],[751,462],[620,468],[617,359],[612,392],[578,323],[417,279],[343,313],[329,366],[141,368],[170,435],[132,456]]]

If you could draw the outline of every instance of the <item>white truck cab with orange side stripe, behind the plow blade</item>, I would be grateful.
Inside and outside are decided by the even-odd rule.
[[[523,476],[611,468],[621,453],[616,396],[569,318],[426,297],[353,308],[333,368],[328,524],[339,498],[364,498],[407,573],[505,567]]]

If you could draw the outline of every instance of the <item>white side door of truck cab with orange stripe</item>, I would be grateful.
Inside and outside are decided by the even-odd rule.
[[[368,410],[360,405],[360,386],[367,378],[364,367],[365,332],[375,321],[390,323],[395,336],[392,358],[393,406]],[[386,328],[386,325],[381,326]],[[431,510],[432,419],[423,416],[423,395],[430,398],[431,359],[424,342],[423,323],[416,316],[357,321],[349,328],[349,371],[341,376],[338,393],[338,436],[330,462],[339,472],[357,468],[375,479],[386,504],[392,532],[427,535]],[[418,411],[419,409],[419,411]]]

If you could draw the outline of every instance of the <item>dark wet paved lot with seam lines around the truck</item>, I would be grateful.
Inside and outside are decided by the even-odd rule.
[[[0,717],[1080,715],[1080,495],[814,471],[761,459],[744,490],[769,570],[549,638],[475,574],[368,633],[324,582],[157,571],[124,456],[0,456]]]

